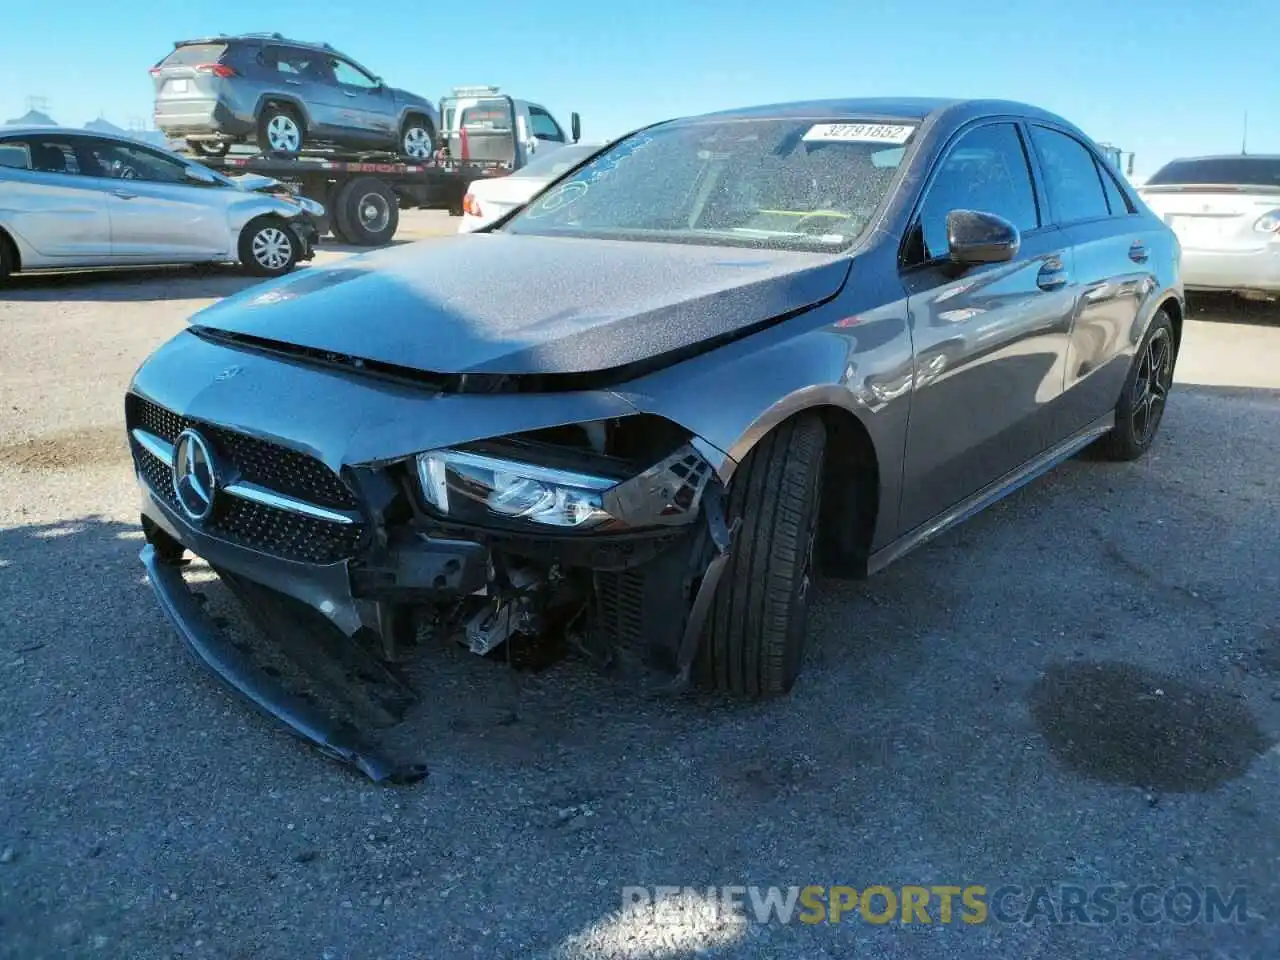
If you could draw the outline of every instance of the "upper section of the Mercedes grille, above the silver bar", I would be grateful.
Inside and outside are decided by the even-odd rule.
[[[180,417],[132,393],[125,401],[124,417],[129,429],[141,428],[169,443],[177,440],[178,434],[188,426],[193,426],[228,462],[236,465],[243,480],[321,507],[356,508],[356,498],[342,479],[306,453],[200,420]]]

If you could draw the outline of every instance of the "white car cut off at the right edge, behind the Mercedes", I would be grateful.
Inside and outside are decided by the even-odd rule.
[[[1183,248],[1189,291],[1280,296],[1280,156],[1198,156],[1139,189]]]

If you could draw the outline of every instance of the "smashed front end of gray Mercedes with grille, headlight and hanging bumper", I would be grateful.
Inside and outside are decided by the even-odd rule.
[[[125,415],[164,611],[219,677],[375,781],[425,773],[371,731],[413,703],[397,664],[433,639],[513,662],[576,648],[663,692],[689,684],[731,531],[714,452],[671,421],[609,417],[334,471],[138,393]],[[251,614],[265,660],[192,593],[187,552]]]

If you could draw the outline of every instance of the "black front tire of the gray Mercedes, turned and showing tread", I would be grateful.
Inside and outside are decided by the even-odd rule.
[[[730,484],[741,518],[698,650],[703,686],[745,698],[791,690],[804,660],[827,430],[790,420],[760,440]]]

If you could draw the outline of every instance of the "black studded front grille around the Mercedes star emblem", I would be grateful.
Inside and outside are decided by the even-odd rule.
[[[138,428],[169,443],[186,428],[195,426],[243,480],[324,507],[349,511],[357,506],[355,495],[333,471],[303,453],[180,417],[134,394],[125,402],[125,422],[131,430]],[[137,442],[132,447],[143,481],[180,513],[170,465]],[[338,524],[227,494],[216,498],[202,529],[220,540],[303,563],[335,563],[353,557],[365,532],[362,524]]]

